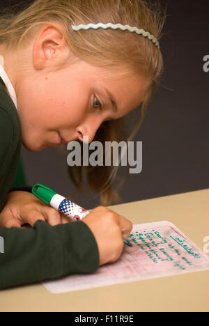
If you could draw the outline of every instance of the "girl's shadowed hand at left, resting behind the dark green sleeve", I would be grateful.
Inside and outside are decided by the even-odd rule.
[[[40,201],[29,192],[10,192],[6,205],[0,213],[0,226],[20,228],[24,224],[33,226],[38,219],[54,226],[71,220],[57,210]]]

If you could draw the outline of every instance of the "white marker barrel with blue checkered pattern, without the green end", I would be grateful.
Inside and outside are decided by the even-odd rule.
[[[64,215],[67,215],[68,217],[75,219],[75,221],[80,221],[83,219],[86,215],[89,214],[88,210],[85,210],[81,206],[72,203],[72,201],[69,201],[68,199],[65,199],[65,197],[56,194],[50,203],[53,208],[56,210],[59,210]]]

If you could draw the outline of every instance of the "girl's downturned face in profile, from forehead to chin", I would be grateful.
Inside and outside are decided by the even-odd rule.
[[[117,77],[84,61],[22,77],[16,92],[24,146],[36,152],[84,136],[93,141],[104,121],[143,102],[146,83],[145,77]]]

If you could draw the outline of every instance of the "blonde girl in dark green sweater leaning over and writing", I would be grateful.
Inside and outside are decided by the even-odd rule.
[[[84,136],[117,140],[121,118],[142,104],[139,128],[162,72],[163,24],[141,0],[36,0],[1,17],[0,288],[95,272],[121,256],[132,229],[125,217],[98,207],[68,223],[29,189],[10,187],[21,141],[36,152]],[[87,172],[96,191],[110,177],[108,203],[111,171]],[[82,171],[70,173],[79,183]]]

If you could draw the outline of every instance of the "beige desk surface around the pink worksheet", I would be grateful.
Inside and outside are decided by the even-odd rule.
[[[209,189],[111,206],[133,224],[169,221],[203,250]],[[61,295],[42,284],[0,291],[0,311],[209,311],[209,270]]]

